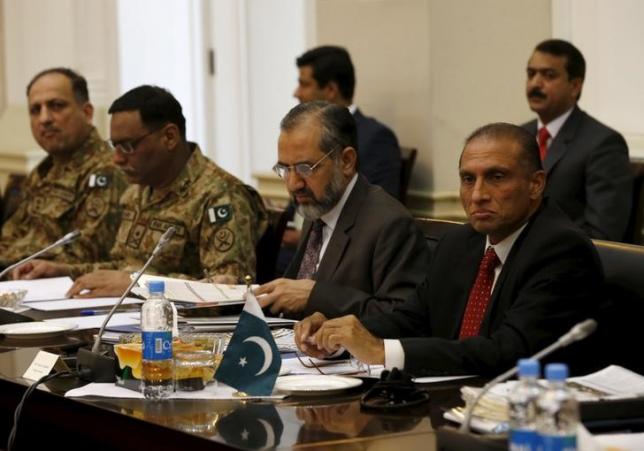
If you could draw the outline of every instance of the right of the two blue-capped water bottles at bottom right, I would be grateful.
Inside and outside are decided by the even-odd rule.
[[[568,366],[546,365],[548,387],[537,400],[537,431],[543,451],[575,451],[579,405],[566,388]]]

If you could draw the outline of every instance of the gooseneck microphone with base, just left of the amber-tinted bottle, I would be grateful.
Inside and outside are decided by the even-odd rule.
[[[150,265],[150,263],[152,263],[154,257],[157,256],[159,251],[161,251],[161,249],[163,249],[166,244],[168,244],[175,231],[176,228],[171,226],[168,228],[168,230],[165,231],[163,235],[161,235],[159,242],[152,250],[152,253],[148,257],[148,260],[145,262],[141,270],[134,273],[134,277],[132,278],[130,285],[121,295],[116,304],[114,304],[107,316],[105,316],[105,320],[103,321],[98,334],[96,334],[96,339],[94,340],[92,349],[89,350],[86,348],[80,348],[78,350],[78,354],[76,355],[76,367],[80,373],[81,378],[90,380],[92,382],[114,382],[114,358],[100,354],[98,352],[101,345],[101,337],[105,332],[105,327],[107,326],[107,323],[110,321],[110,319],[112,319],[114,312],[116,312],[116,309],[119,308],[132,287],[136,285],[141,276],[145,273],[146,269],[148,269],[148,266]]]

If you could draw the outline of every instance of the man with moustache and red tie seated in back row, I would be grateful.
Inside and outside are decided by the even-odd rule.
[[[624,138],[577,106],[586,63],[558,39],[535,48],[526,96],[538,119],[524,127],[537,137],[547,174],[545,195],[591,238],[622,241],[633,187]]]

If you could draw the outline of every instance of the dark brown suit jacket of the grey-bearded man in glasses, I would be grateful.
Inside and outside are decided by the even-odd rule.
[[[297,277],[310,230],[306,221],[285,277]],[[318,266],[304,315],[390,311],[413,295],[428,265],[429,248],[409,212],[359,176]]]

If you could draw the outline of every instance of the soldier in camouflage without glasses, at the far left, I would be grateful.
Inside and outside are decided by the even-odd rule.
[[[34,139],[49,155],[28,175],[19,207],[2,227],[0,266],[76,229],[81,237],[50,257],[69,263],[104,259],[126,183],[92,126],[87,82],[70,69],[47,69],[31,80],[27,98]]]

